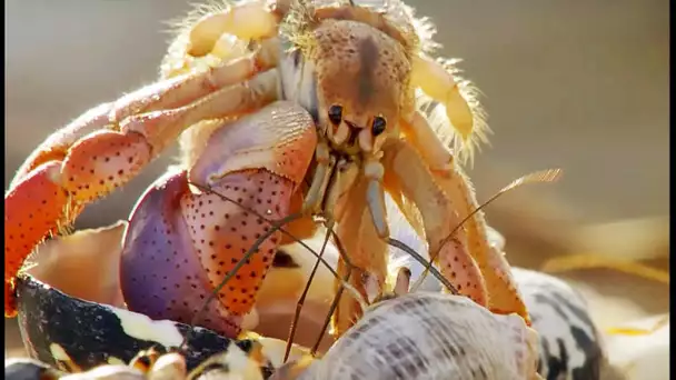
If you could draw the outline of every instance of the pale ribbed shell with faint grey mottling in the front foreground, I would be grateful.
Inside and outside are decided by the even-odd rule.
[[[300,379],[533,379],[537,334],[469,299],[407,294],[377,303]]]

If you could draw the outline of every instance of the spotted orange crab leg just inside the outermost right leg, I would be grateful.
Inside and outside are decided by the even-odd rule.
[[[486,284],[479,266],[471,257],[467,237],[458,229],[451,239],[445,238],[461,221],[457,204],[437,186],[434,174],[416,150],[396,140],[384,147],[386,190],[404,194],[420,210],[430,252],[439,251],[437,263],[441,274],[464,296],[487,306]],[[397,198],[397,197],[395,197]]]

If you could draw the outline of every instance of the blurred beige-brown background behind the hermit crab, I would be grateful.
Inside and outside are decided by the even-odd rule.
[[[539,268],[547,258],[597,253],[668,270],[669,2],[408,3],[431,17],[440,52],[463,58],[464,74],[486,94],[495,134],[469,170],[479,201],[530,171],[564,170],[559,182],[520,188],[487,209],[510,261]],[[152,82],[169,39],[163,21],[190,9],[185,0],[4,7],[6,189],[49,133]],[[127,218],[170,161],[168,152],[90,207],[78,227]],[[608,270],[563,276],[588,290],[607,323],[668,310],[668,287],[655,281]],[[6,349],[17,344],[10,330]]]

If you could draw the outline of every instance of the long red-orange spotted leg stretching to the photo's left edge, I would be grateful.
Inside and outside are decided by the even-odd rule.
[[[86,203],[136,177],[186,128],[203,119],[239,116],[272,101],[276,71],[240,82],[251,72],[236,70],[238,74],[232,74],[227,70],[240,67],[240,62],[216,70],[218,77],[203,72],[151,84],[122,98],[126,101],[93,109],[86,114],[87,119],[80,118],[48,138],[22,166],[4,196],[6,294],[11,294],[7,288],[12,287],[14,276],[36,244],[60,226],[71,223]],[[219,79],[219,84],[232,86],[209,93],[213,88],[205,84],[215,79]],[[133,113],[119,122],[116,119],[117,114],[132,113],[130,110],[153,109],[163,102],[177,104],[180,99],[205,92],[209,94],[180,108]],[[6,316],[16,313],[12,303],[11,297],[6,299]]]

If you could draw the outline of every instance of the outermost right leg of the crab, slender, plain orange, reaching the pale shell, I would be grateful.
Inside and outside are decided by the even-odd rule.
[[[469,179],[455,164],[453,156],[421,114],[416,113],[408,127],[407,141],[417,148],[420,158],[429,168],[427,172],[431,177],[427,181],[436,183],[443,190],[460,220],[467,218],[478,207]],[[420,211],[424,213],[424,210]],[[511,276],[509,263],[501,249],[490,246],[493,239],[489,237],[484,213],[476,212],[465,221],[464,227],[467,237],[466,247],[486,281],[489,309],[497,313],[516,312],[529,323],[528,311]],[[430,247],[430,254],[434,252]]]

